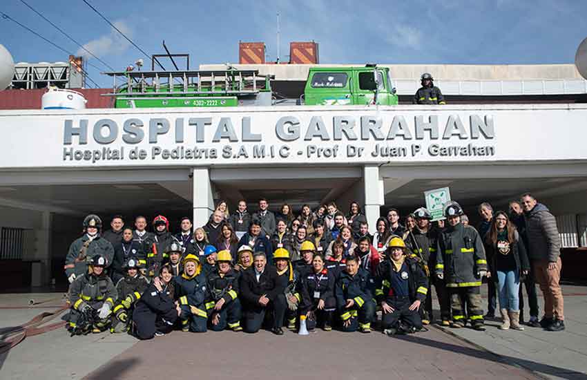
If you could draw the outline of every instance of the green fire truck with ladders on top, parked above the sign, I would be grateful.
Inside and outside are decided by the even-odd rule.
[[[287,104],[271,91],[270,75],[258,70],[122,71],[113,77],[115,108],[230,107]],[[122,83],[120,79],[122,78]],[[120,83],[120,84],[119,84]],[[294,104],[398,104],[389,68],[314,67]]]

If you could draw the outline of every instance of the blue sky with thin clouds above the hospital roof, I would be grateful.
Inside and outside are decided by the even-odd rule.
[[[116,69],[146,58],[81,0],[26,1]],[[267,59],[275,60],[277,12],[281,61],[289,58],[290,41],[314,39],[324,64],[572,63],[587,37],[584,0],[88,1],[146,53],[164,53],[165,40],[173,53],[191,55],[192,68],[238,61],[239,40],[264,41]],[[79,51],[21,1],[3,0],[0,11]],[[67,60],[66,53],[1,18],[0,44],[15,62]],[[110,85],[99,70],[88,67],[88,73]]]

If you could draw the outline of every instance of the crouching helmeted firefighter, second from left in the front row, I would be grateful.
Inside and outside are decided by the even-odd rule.
[[[148,281],[145,276],[140,274],[139,267],[139,260],[135,256],[128,258],[122,265],[126,274],[116,283],[118,298],[113,310],[110,332],[128,331],[128,326],[133,320],[135,304],[141,299],[148,286]]]

